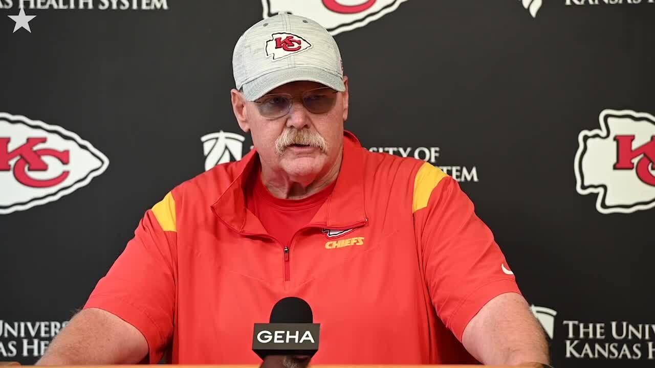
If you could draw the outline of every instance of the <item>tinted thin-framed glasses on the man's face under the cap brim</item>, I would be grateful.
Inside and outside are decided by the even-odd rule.
[[[334,107],[337,101],[337,91],[329,87],[314,88],[306,90],[299,97],[291,96],[288,93],[265,94],[254,102],[263,117],[276,119],[287,115],[291,111],[293,100],[300,98],[305,109],[312,114],[324,114]]]

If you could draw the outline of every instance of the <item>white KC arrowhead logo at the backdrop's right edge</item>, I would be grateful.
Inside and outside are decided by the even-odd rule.
[[[655,117],[606,109],[601,129],[582,130],[574,170],[580,194],[597,193],[600,213],[655,207]]]

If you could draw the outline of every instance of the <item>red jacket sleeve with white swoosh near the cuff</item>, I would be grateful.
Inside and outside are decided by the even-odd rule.
[[[464,328],[488,301],[521,292],[471,200],[457,181],[429,163],[415,177],[413,213],[430,298],[461,342]]]

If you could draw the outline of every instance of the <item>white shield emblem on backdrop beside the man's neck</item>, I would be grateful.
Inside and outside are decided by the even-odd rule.
[[[223,132],[205,134],[200,138],[205,156],[205,171],[217,164],[238,161],[243,155],[243,142],[246,138],[236,133]]]

